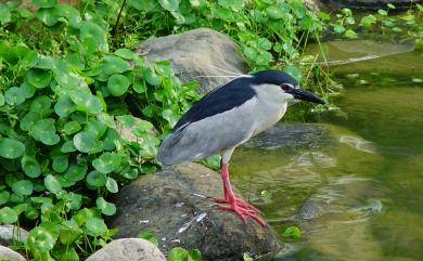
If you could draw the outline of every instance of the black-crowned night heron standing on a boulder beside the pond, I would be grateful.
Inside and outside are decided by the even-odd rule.
[[[255,207],[234,196],[228,162],[236,146],[277,123],[293,99],[324,104],[323,100],[300,90],[291,76],[279,70],[240,76],[206,94],[182,116],[163,141],[157,159],[166,166],[221,153],[225,198],[214,200],[229,205],[218,208],[235,212],[244,223],[245,217],[251,217],[265,225]]]

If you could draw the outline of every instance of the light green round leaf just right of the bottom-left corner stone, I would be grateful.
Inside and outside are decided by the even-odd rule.
[[[29,249],[33,251],[48,252],[54,247],[54,236],[42,226],[33,229],[27,238]]]

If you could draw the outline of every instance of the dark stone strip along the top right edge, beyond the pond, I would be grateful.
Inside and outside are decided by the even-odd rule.
[[[321,0],[329,6],[377,10],[386,9],[386,4],[393,3],[397,9],[409,9],[411,3],[422,0]]]

